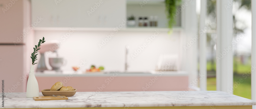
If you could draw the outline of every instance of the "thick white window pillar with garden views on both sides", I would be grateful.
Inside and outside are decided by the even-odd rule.
[[[229,0],[217,0],[216,88],[233,94],[233,15]]]

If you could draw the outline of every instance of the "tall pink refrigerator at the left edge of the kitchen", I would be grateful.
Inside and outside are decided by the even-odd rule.
[[[26,92],[34,44],[31,3],[1,0],[0,8],[0,79],[4,80],[4,92]]]

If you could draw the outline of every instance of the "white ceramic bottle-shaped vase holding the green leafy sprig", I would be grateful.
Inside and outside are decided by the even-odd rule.
[[[27,83],[27,98],[33,97],[39,97],[39,88],[34,73],[34,65],[31,65]]]

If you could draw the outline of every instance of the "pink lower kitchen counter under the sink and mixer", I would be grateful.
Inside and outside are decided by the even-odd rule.
[[[72,86],[78,92],[87,91],[183,91],[188,89],[188,73],[90,73],[35,74],[39,91],[50,89],[56,82]]]

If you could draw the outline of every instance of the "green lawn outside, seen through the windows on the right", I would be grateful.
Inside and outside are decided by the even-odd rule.
[[[234,65],[234,90],[233,94],[237,96],[241,96],[244,98],[251,99],[251,75],[245,77],[245,74],[247,72],[251,71],[251,62],[248,61],[247,64],[242,64],[239,62],[239,59],[235,60],[234,58],[234,63],[237,63],[237,66],[235,67]],[[212,70],[212,68],[214,68]],[[214,67],[211,66],[211,63],[207,63],[207,71],[208,74],[209,72],[214,72],[216,71],[216,64],[214,63]],[[210,73],[211,74],[211,73]],[[239,81],[240,84],[239,84]],[[207,90],[216,90],[216,77],[209,77],[207,78]]]

